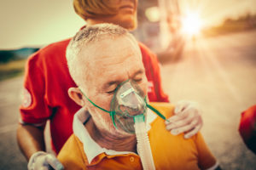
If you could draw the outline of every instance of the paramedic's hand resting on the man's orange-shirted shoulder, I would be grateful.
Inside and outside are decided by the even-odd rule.
[[[189,139],[199,132],[202,127],[201,111],[195,103],[188,101],[178,102],[174,110],[175,115],[166,121],[166,129],[173,135],[185,133],[184,138]]]

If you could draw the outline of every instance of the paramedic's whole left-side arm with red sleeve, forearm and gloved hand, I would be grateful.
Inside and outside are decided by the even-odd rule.
[[[20,105],[21,122],[17,129],[17,141],[28,160],[28,170],[63,169],[54,155],[44,151],[44,121],[52,113],[44,100],[45,71],[40,60],[44,59],[44,55],[48,55],[48,52],[38,51],[27,59],[23,100]]]

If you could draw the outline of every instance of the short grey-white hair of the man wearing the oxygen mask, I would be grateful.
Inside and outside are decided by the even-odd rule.
[[[83,48],[90,48],[91,44],[101,40],[115,39],[118,37],[130,37],[132,41],[137,42],[135,37],[125,30],[125,28],[113,24],[86,26],[72,38],[67,46],[66,58],[70,76],[77,86],[86,84],[85,79],[87,79],[88,75],[83,75],[85,77],[81,78],[81,74],[90,72],[87,71],[86,65],[81,65],[81,63],[90,62],[90,55],[79,56],[80,51]]]

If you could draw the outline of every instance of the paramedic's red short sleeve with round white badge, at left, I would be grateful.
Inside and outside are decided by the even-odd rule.
[[[40,124],[47,121],[52,111],[45,100],[45,83],[40,52],[32,54],[26,62],[23,101],[20,105],[21,122]],[[42,56],[41,56],[42,58]]]

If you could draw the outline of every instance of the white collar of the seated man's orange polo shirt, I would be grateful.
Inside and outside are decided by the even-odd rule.
[[[149,130],[150,123],[154,121],[157,116],[152,113],[148,109],[147,116],[147,130]],[[132,152],[129,151],[116,151],[116,150],[108,150],[106,148],[102,148],[99,144],[97,144],[93,139],[91,139],[90,134],[87,129],[84,127],[84,122],[90,118],[90,114],[84,110],[84,108],[80,109],[73,118],[73,133],[79,138],[84,146],[84,153],[87,156],[89,163],[98,155],[102,153],[106,153],[107,155],[122,155],[129,154]],[[90,147],[89,147],[90,146]]]

